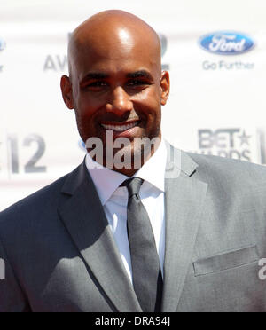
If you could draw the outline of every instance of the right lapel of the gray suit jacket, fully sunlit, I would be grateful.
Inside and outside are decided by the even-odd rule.
[[[169,145],[168,145],[169,151]],[[192,177],[197,164],[183,152],[169,161],[165,178],[166,253],[162,311],[176,311],[200,224],[207,184]],[[168,152],[169,156],[169,152]]]

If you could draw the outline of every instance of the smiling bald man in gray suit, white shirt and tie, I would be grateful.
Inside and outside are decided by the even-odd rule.
[[[68,56],[88,154],[0,214],[0,311],[265,311],[266,170],[161,140],[169,76],[137,17],[93,16]]]

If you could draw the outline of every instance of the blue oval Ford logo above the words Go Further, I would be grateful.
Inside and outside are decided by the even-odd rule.
[[[215,32],[200,38],[200,47],[219,55],[238,55],[254,48],[254,40],[237,32]]]

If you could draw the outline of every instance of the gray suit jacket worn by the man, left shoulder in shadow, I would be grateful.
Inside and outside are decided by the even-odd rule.
[[[266,311],[266,169],[180,155],[165,179],[162,311]],[[0,311],[141,311],[84,164],[0,214],[0,258]]]

